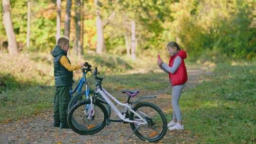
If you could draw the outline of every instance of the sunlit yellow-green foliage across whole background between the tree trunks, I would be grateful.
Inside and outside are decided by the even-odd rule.
[[[56,1],[31,1],[30,45],[26,49],[27,0],[10,0],[12,21],[20,49],[49,52],[55,45]],[[256,56],[255,0],[100,0],[107,53],[123,55],[124,35],[131,35],[136,22],[137,54],[162,51],[169,41],[177,41],[189,54],[188,59],[206,57],[219,61],[252,59]],[[62,34],[65,2],[62,2]],[[76,7],[72,7],[73,11]],[[93,0],[84,3],[84,45],[95,50],[96,7]],[[2,13],[2,8],[0,9]],[[110,18],[110,15],[113,14]],[[0,15],[2,21],[2,15]],[[71,45],[74,39],[71,21]],[[63,35],[62,35],[63,36]],[[0,39],[7,40],[0,24]],[[86,51],[86,50],[84,50]],[[220,59],[219,59],[220,58]],[[224,59],[225,59],[224,58]]]

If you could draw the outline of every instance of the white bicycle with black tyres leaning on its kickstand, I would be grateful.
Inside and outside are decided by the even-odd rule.
[[[122,122],[124,124],[129,123],[133,130],[128,139],[136,134],[144,141],[157,142],[165,136],[167,131],[165,114],[155,104],[142,101],[143,99],[155,98],[155,96],[146,96],[130,101],[131,98],[137,96],[139,91],[123,90],[122,93],[128,94],[128,99],[127,103],[121,103],[101,87],[103,78],[99,78],[97,74],[96,67],[95,72],[93,72],[97,81],[95,94],[90,99],[75,104],[68,112],[68,124],[74,132],[80,135],[91,135],[100,132],[106,125],[110,125],[110,122]],[[97,94],[100,94],[104,101],[98,99]],[[124,107],[123,112],[120,112],[110,99]],[[89,108],[86,107],[88,104],[90,104]],[[110,119],[104,104],[108,104],[119,119]],[[73,120],[76,121],[75,125]]]

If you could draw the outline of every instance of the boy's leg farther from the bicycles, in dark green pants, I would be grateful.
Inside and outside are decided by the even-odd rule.
[[[54,97],[54,127],[60,126],[60,111],[59,111],[59,90],[56,88],[55,97]]]

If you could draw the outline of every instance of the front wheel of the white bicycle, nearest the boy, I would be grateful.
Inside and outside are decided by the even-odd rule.
[[[86,105],[90,103],[91,100],[79,102],[68,113],[68,125],[74,132],[80,135],[98,133],[106,126],[106,120],[108,118],[107,109],[100,102],[96,102],[93,108],[93,114],[90,117],[90,111],[86,108]],[[73,121],[76,122],[75,125]]]

